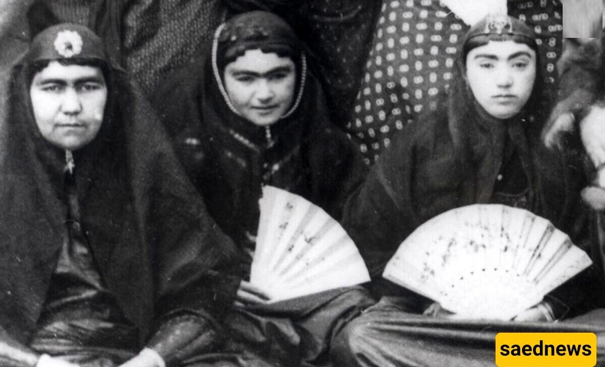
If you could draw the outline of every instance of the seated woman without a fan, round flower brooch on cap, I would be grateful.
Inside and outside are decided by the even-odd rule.
[[[214,351],[240,282],[217,269],[238,256],[150,109],[79,25],[42,31],[13,68],[3,366],[178,366]]]

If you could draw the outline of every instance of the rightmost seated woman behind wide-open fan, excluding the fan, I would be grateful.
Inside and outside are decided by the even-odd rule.
[[[540,140],[549,109],[534,31],[518,19],[490,15],[466,33],[461,51],[448,100],[399,134],[345,207],[344,227],[368,264],[373,290],[387,297],[339,335],[333,349],[339,365],[488,366],[499,331],[605,331],[603,314],[570,325],[541,323],[595,308],[587,296],[599,288],[586,273],[517,314],[517,322],[454,320],[431,300],[380,278],[420,224],[470,204],[529,210],[584,244],[581,162]]]

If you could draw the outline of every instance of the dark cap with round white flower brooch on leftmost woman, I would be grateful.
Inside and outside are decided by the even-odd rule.
[[[41,31],[27,53],[26,61],[60,59],[97,59],[108,62],[103,41],[83,25],[62,23]]]

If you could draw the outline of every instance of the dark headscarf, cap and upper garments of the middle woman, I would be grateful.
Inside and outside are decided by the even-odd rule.
[[[226,63],[256,49],[296,65],[293,104],[270,126],[244,119],[223,85]],[[352,143],[329,120],[306,55],[283,19],[251,11],[218,27],[212,53],[166,79],[154,94],[181,163],[213,218],[237,242],[257,230],[263,184],[302,195],[339,218],[342,201],[364,178]]]

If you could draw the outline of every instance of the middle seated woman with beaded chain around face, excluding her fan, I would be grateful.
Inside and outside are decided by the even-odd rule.
[[[248,264],[263,186],[300,195],[338,219],[365,174],[328,119],[311,64],[283,19],[252,11],[218,27],[212,52],[155,93],[181,163]],[[241,271],[248,276],[250,268]],[[271,302],[243,281],[226,326],[248,351],[278,365],[324,365],[335,329],[371,303],[351,287]]]

